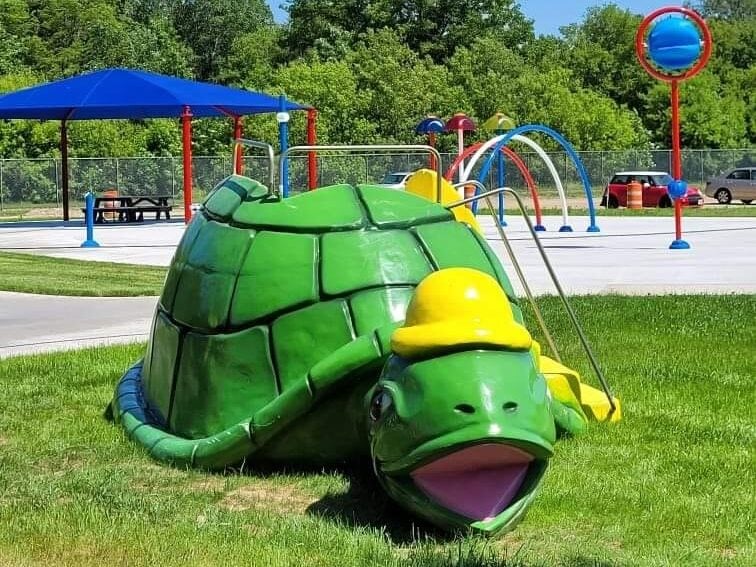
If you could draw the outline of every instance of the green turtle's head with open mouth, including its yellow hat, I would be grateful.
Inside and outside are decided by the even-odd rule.
[[[535,496],[556,432],[536,343],[492,277],[434,272],[417,287],[366,399],[375,472],[446,528],[510,529]]]

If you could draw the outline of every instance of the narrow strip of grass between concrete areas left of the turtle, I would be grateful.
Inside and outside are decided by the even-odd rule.
[[[123,297],[159,295],[166,268],[0,252],[0,291]]]

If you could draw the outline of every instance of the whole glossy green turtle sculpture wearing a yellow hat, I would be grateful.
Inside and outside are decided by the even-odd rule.
[[[497,533],[557,428],[585,422],[522,321],[495,254],[439,204],[367,185],[278,199],[231,176],[189,224],[110,412],[178,466],[370,459],[410,511]]]

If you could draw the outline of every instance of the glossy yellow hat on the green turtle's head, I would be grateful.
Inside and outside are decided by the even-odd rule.
[[[404,326],[391,335],[391,349],[406,358],[463,345],[528,350],[532,342],[499,283],[470,268],[439,270],[421,281]]]

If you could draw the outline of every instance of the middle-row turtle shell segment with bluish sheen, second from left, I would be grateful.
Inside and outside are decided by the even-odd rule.
[[[197,237],[176,289],[173,318],[195,329],[226,326],[241,263],[254,233],[209,221]]]

